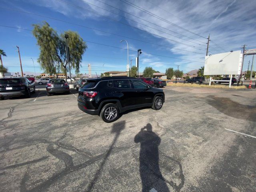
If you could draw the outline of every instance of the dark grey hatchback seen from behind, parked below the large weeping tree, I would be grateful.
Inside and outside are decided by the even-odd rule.
[[[46,85],[47,95],[54,93],[70,93],[69,85],[64,79],[50,79]]]

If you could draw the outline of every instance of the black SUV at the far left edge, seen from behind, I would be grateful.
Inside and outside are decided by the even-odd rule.
[[[18,96],[30,98],[36,92],[34,83],[25,77],[0,78],[0,99]]]

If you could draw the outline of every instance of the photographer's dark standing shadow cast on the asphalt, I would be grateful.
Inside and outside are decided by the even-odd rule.
[[[134,142],[140,143],[140,178],[142,192],[149,192],[152,188],[158,192],[170,192],[159,168],[160,137],[152,132],[151,124],[147,124],[134,137]]]

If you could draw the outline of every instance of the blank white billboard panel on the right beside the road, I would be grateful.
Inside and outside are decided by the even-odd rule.
[[[237,75],[241,62],[240,53],[241,51],[234,51],[206,56],[204,75]]]

